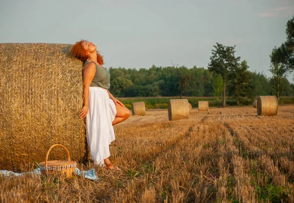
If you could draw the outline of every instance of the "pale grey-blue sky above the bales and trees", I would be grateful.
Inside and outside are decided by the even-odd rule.
[[[271,77],[270,53],[293,15],[294,0],[0,0],[0,43],[85,39],[104,67],[139,69],[207,68],[218,42]]]

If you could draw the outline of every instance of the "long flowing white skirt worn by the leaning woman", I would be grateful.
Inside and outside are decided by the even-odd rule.
[[[110,156],[109,144],[115,140],[112,121],[116,115],[115,104],[107,90],[89,87],[89,110],[86,116],[87,143],[95,164],[101,165]]]

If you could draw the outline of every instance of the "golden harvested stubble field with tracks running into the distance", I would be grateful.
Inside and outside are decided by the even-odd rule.
[[[294,105],[270,117],[192,109],[177,121],[146,111],[115,132],[110,159],[120,171],[97,168],[96,182],[0,177],[0,202],[294,202]]]

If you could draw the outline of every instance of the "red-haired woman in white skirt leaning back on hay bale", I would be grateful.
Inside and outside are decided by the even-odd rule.
[[[102,67],[103,57],[92,42],[81,40],[71,48],[73,57],[83,62],[84,105],[79,112],[86,118],[87,143],[95,165],[114,166],[109,160],[109,144],[115,139],[113,125],[122,122],[130,111],[109,91],[110,74]]]

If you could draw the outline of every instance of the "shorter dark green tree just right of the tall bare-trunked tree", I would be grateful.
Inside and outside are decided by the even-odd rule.
[[[230,92],[237,99],[239,105],[240,97],[247,95],[250,82],[250,72],[248,71],[247,62],[244,60],[240,66],[236,66],[231,73]]]

